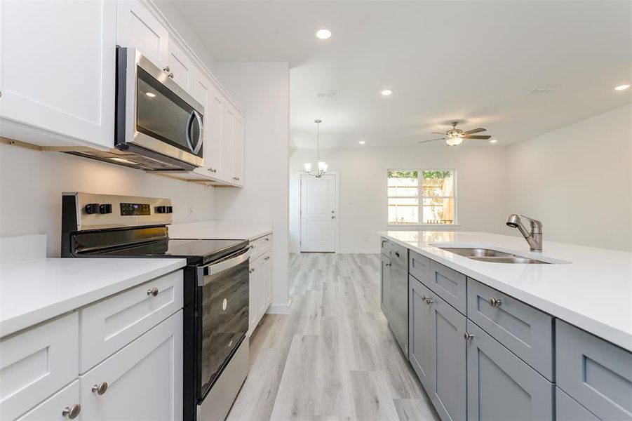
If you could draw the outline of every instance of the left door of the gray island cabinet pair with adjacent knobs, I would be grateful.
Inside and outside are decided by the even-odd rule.
[[[408,278],[408,359],[426,390],[431,390],[430,350],[430,305],[426,300],[432,295],[431,290],[417,281],[413,276]]]

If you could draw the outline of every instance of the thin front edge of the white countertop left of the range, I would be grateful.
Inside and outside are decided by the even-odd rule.
[[[0,339],[8,335],[13,335],[13,333],[18,333],[20,330],[36,326],[39,323],[55,319],[55,317],[61,316],[62,314],[67,314],[81,307],[86,307],[86,305],[90,305],[93,302],[115,295],[123,290],[133,288],[141,283],[151,281],[159,276],[170,274],[187,265],[187,260],[185,259],[171,260],[174,261],[169,262],[168,265],[163,267],[143,272],[136,276],[130,276],[121,281],[110,283],[107,286],[90,290],[88,293],[83,293],[64,301],[55,302],[46,307],[39,307],[32,312],[0,321]]]

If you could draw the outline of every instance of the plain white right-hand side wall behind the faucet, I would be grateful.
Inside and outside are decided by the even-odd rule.
[[[632,250],[632,105],[511,145],[509,211],[544,239]]]

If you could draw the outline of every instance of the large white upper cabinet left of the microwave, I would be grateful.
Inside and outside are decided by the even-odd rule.
[[[0,135],[114,146],[113,1],[0,1],[0,39],[0,116],[27,125],[0,121]]]

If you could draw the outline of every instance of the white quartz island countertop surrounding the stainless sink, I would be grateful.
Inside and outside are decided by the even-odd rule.
[[[522,237],[483,232],[378,234],[632,351],[632,253],[552,241],[532,253]],[[436,246],[493,248],[567,263],[480,262]]]

